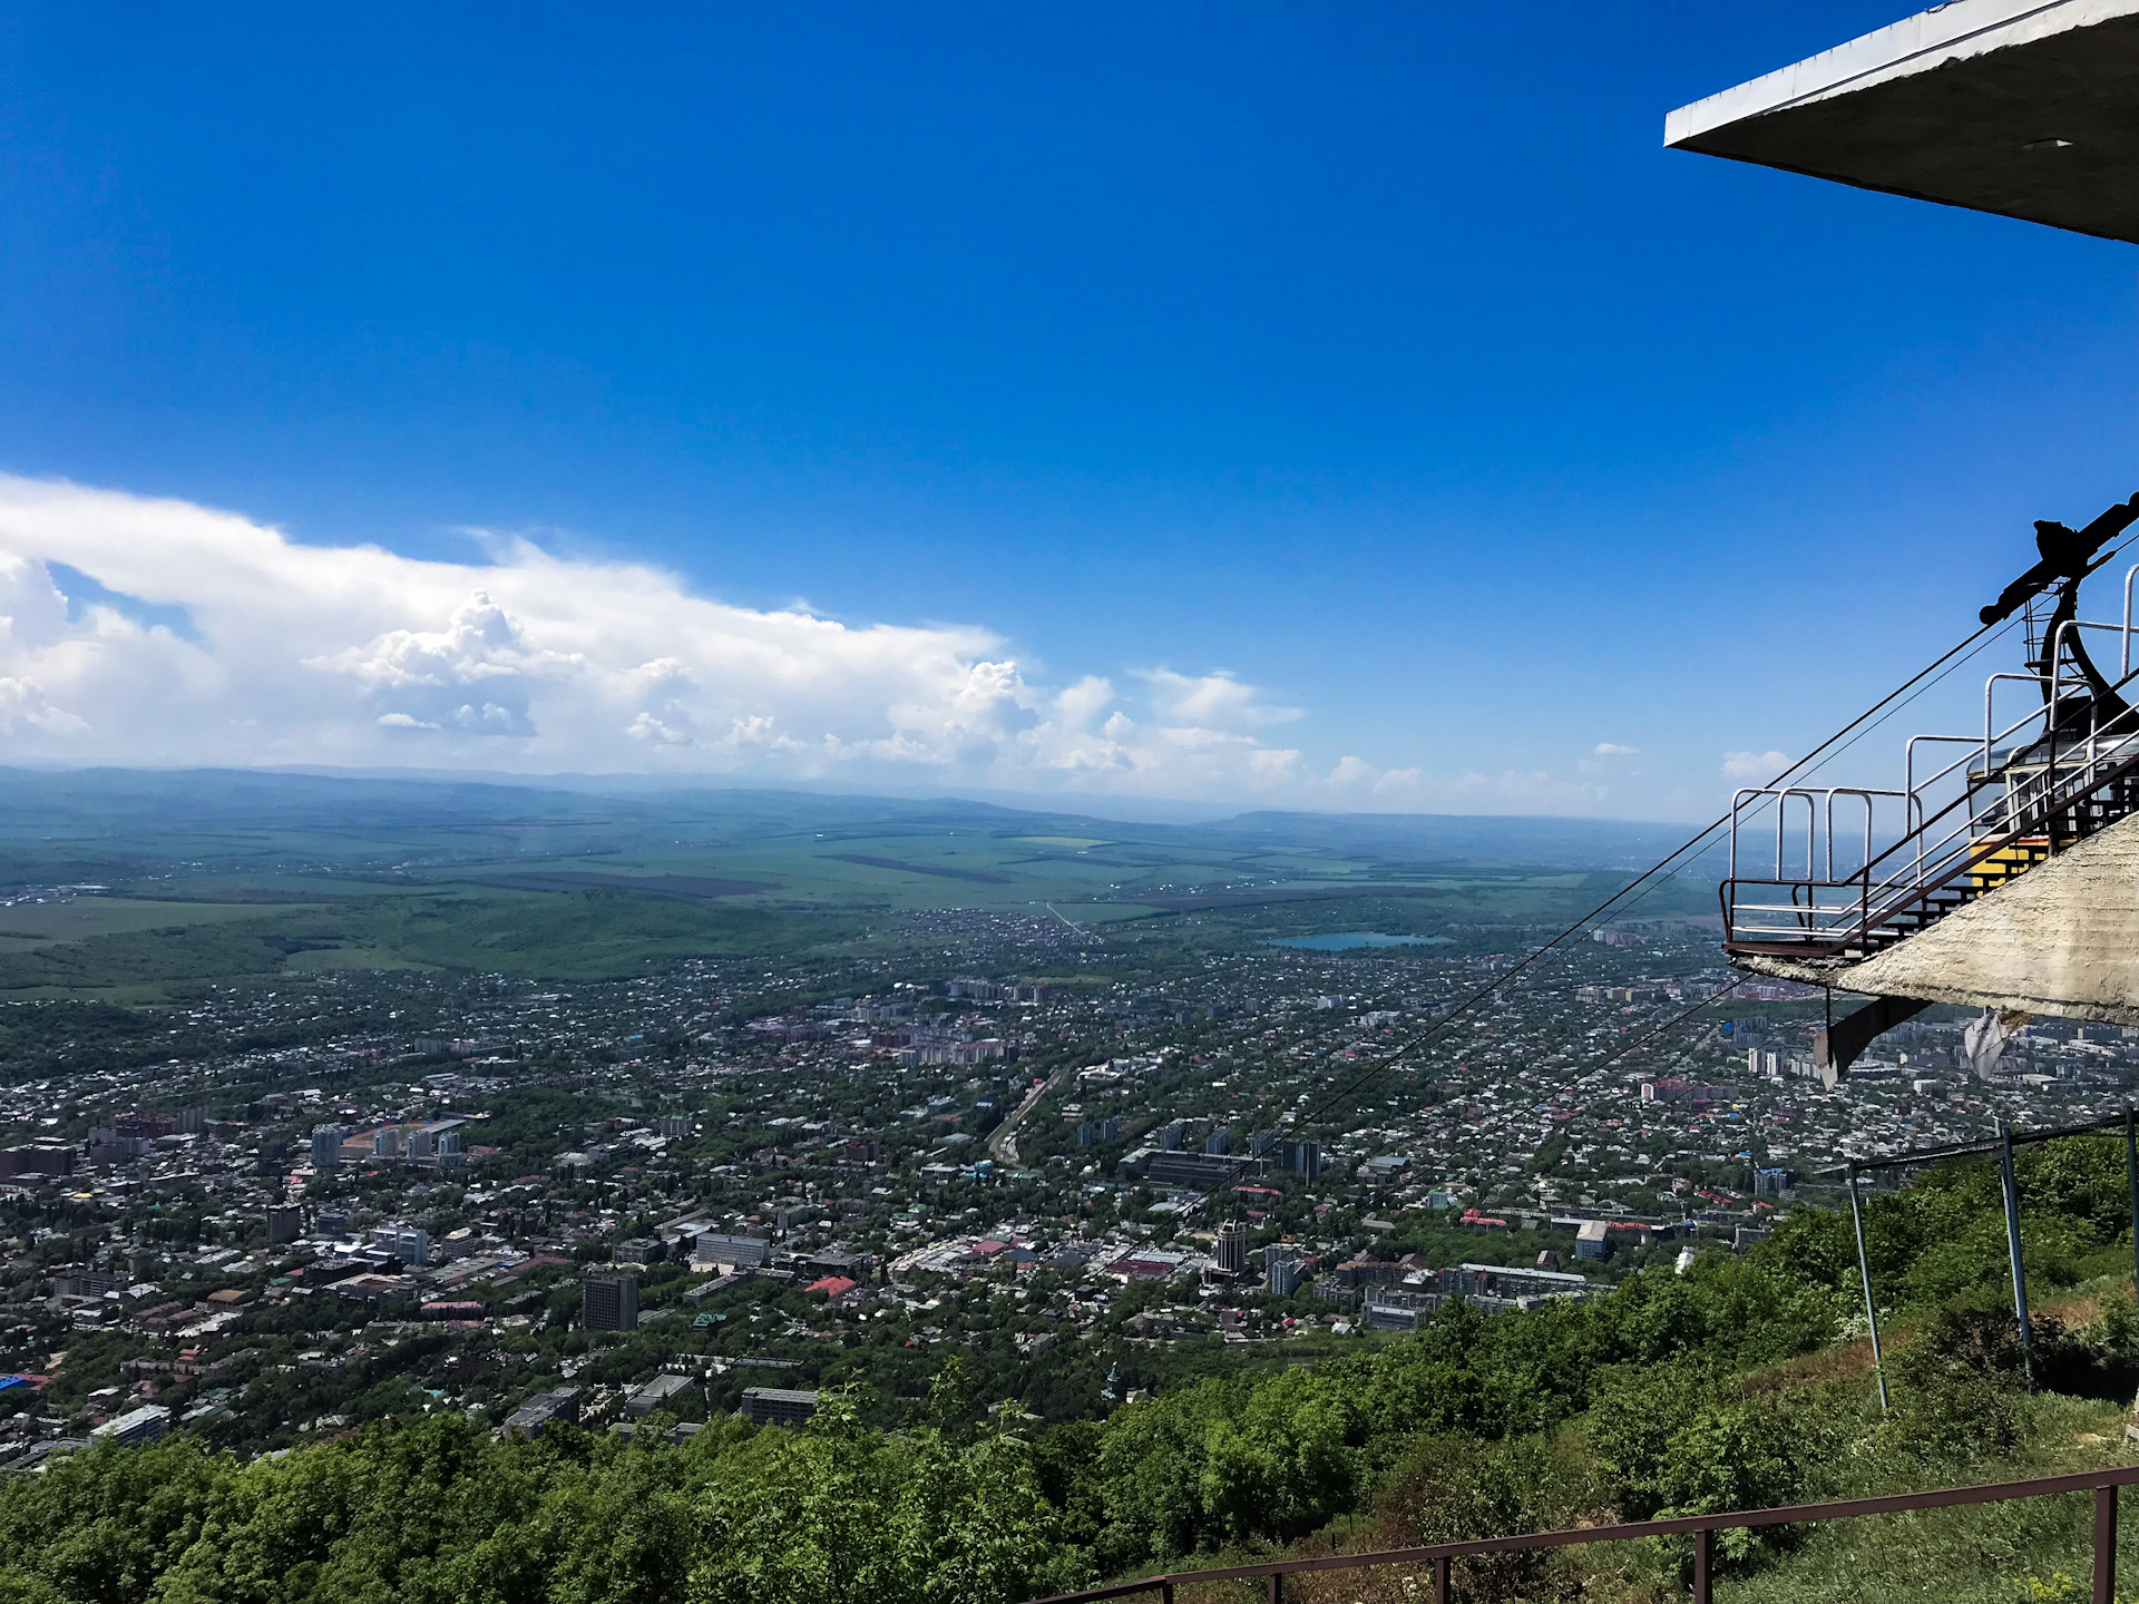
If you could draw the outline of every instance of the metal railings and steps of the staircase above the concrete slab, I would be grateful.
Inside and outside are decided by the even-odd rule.
[[[2139,680],[2139,672],[2130,667],[2135,577],[2139,565],[2124,577],[2122,624],[2060,622],[2047,642],[2047,661],[2062,665],[2066,631],[2115,631],[2122,642],[2122,678],[2115,689]],[[2036,693],[2043,689],[2043,680],[2032,674],[1991,674],[1983,687],[1981,738],[1910,736],[1904,742],[1897,791],[1848,785],[1737,791],[1730,802],[1730,866],[1722,885],[1726,947],[1867,956],[1987,890],[1981,881],[2009,879],[2105,823],[2098,817],[2105,808],[2090,804],[2120,783],[2139,778],[2139,710],[2122,708],[2105,719],[2100,701],[2090,697],[2081,729],[2073,716],[2075,695],[2088,687],[2060,667],[2049,697],[2000,727],[1996,693],[2004,680],[2023,680]],[[1964,751],[1936,772],[1919,776],[1919,744]],[[1846,838],[1837,830],[1837,798],[1861,806],[1861,830],[1852,813]],[[1882,808],[1889,815],[1884,830],[1891,845],[1876,849]],[[1756,819],[1765,830],[1763,815],[1769,811],[1771,873],[1743,875],[1748,830]],[[1968,879],[1972,883],[1957,894],[1949,890]],[[1940,892],[1946,894],[1940,898]]]

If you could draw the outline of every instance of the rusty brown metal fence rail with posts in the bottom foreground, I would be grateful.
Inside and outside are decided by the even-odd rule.
[[[1906,1514],[1908,1510],[1946,1510],[1957,1503],[2006,1503],[2058,1493],[2094,1493],[2094,1604],[2113,1604],[2118,1587],[2118,1489],[2139,1482],[2139,1465],[2118,1465],[2071,1476],[2038,1476],[2030,1482],[1987,1482],[1983,1486],[1942,1486],[1934,1493],[1893,1493],[1876,1499],[1842,1499],[1837,1503],[1792,1503],[1780,1510],[1728,1510],[1724,1514],[1690,1514],[1675,1521],[1628,1521],[1615,1527],[1572,1527],[1568,1531],[1532,1531],[1519,1538],[1476,1538],[1472,1542],[1433,1542],[1420,1548],[1382,1548],[1367,1555],[1320,1555],[1315,1559],[1273,1559],[1262,1566],[1226,1566],[1221,1570],[1176,1570],[1144,1576],[1134,1583],[1087,1587],[1082,1593],[1057,1593],[1033,1604],[1091,1604],[1102,1598],[1134,1598],[1159,1593],[1174,1604],[1174,1589],[1194,1583],[1266,1580],[1271,1604],[1283,1604],[1286,1576],[1313,1570],[1367,1570],[1369,1566],[1433,1566],[1433,1604],[1450,1604],[1450,1566],[1469,1555],[1504,1555],[1523,1548],[1574,1548],[1587,1542],[1626,1542],[1630,1538],[1692,1538],[1694,1600],[1715,1598],[1715,1533],[1739,1527],[1810,1525],[1814,1521],[1855,1521],[1865,1514]]]

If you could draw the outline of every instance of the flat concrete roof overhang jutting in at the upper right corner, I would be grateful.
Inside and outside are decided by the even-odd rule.
[[[1664,143],[2139,244],[2139,0],[1955,0],[1679,107]]]

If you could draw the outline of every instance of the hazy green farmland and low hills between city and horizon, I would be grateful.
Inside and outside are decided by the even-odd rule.
[[[1647,851],[1643,830],[0,770],[0,894],[19,888],[0,907],[0,997],[154,1001],[336,969],[595,980],[881,947],[907,915],[960,909],[1061,917],[1110,945],[1437,935],[1568,917]]]

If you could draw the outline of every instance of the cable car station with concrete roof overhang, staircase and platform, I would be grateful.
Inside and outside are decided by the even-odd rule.
[[[2135,83],[2139,0],[1955,0],[1681,107],[1664,143],[2139,244]],[[2139,1024],[2139,565],[2115,622],[2079,616],[2135,524],[2139,496],[2036,524],[1981,614],[2026,642],[1981,731],[1906,736],[1884,789],[1733,800],[1728,960],[1874,999],[1822,1037],[1829,1082],[1934,1001]]]

